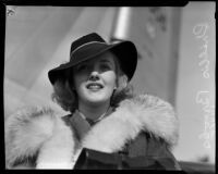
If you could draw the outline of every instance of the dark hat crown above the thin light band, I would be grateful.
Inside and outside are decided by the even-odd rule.
[[[76,39],[75,41],[73,41],[71,44],[71,52],[70,52],[70,54],[74,50],[76,50],[78,47],[81,47],[81,46],[83,46],[85,44],[92,42],[92,41],[106,42],[98,34],[92,33],[92,34],[85,35],[85,36]]]

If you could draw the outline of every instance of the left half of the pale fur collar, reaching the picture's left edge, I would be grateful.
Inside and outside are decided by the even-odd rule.
[[[72,169],[72,137],[70,128],[51,109],[19,110],[5,122],[7,167],[39,151],[37,169]]]

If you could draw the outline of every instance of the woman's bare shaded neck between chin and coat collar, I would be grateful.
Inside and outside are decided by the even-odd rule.
[[[98,105],[87,105],[78,103],[78,111],[82,112],[85,117],[96,121],[108,111],[110,103],[104,103]]]

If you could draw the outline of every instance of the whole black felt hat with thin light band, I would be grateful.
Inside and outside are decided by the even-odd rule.
[[[137,50],[134,44],[132,41],[108,44],[98,34],[92,33],[71,44],[70,61],[68,63],[61,64],[48,72],[51,84],[53,85],[57,78],[61,78],[64,71],[106,51],[111,51],[117,55],[122,71],[128,75],[130,80],[137,65]]]

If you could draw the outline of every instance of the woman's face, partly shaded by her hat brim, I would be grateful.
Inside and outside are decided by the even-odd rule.
[[[107,51],[73,69],[73,84],[78,104],[95,105],[110,102],[117,86],[114,59],[117,58]]]

